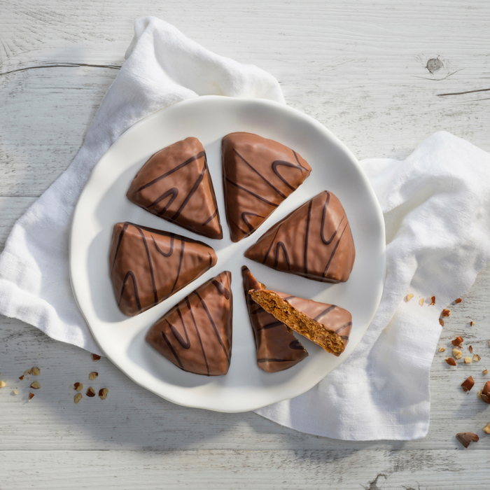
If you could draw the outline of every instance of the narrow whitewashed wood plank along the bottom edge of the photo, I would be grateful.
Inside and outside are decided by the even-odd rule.
[[[472,451],[0,451],[0,489],[488,489]],[[8,469],[7,471],[5,471]]]

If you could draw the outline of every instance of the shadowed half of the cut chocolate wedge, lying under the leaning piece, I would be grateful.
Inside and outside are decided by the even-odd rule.
[[[290,328],[267,313],[248,294],[251,289],[265,289],[265,286],[255,279],[248,267],[241,267],[241,275],[244,279],[246,307],[257,349],[258,367],[266,372],[278,372],[293,367],[308,356],[306,349],[291,333]]]

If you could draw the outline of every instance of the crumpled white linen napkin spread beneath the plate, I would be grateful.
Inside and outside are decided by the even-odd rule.
[[[256,66],[211,53],[156,18],[137,20],[127,61],[70,167],[15,224],[0,255],[0,313],[94,353],[71,293],[69,225],[94,165],[141,118],[204,94],[283,102]],[[384,211],[387,277],[356,351],[304,395],[257,411],[307,433],[351,440],[423,437],[442,307],[490,260],[490,155],[439,132],[403,162],[361,162]],[[416,297],[404,302],[413,292]],[[435,306],[419,297],[435,295]]]

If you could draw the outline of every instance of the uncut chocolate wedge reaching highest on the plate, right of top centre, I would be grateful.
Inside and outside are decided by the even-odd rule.
[[[227,134],[221,147],[226,219],[232,241],[240,241],[301,185],[311,167],[287,146],[257,134]]]

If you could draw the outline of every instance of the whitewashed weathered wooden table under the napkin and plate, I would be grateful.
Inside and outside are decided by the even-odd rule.
[[[80,148],[144,15],[270,71],[288,104],[360,159],[405,158],[436,130],[490,151],[488,1],[0,0],[2,246]],[[411,442],[329,440],[178,407],[108,360],[1,318],[0,489],[489,489],[490,407],[459,388],[490,368],[489,279],[486,267],[440,339],[449,350],[463,335],[482,361],[451,372],[436,354],[430,430]],[[18,377],[33,365],[42,388],[28,403]],[[75,405],[70,386],[89,386],[92,370],[109,397]],[[481,437],[468,449],[454,439],[465,430]]]

